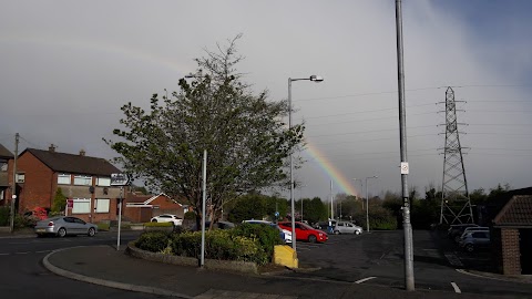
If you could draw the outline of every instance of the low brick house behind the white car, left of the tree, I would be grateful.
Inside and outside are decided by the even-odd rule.
[[[188,206],[182,205],[164,193],[158,195],[129,194],[125,199],[124,218],[133,223],[147,223],[154,216],[173,214],[183,218]]]

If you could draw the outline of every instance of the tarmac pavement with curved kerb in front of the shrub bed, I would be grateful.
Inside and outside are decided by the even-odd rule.
[[[174,298],[512,298],[280,277],[241,275],[149,261],[112,246],[72,247],[43,259],[50,271],[90,283]],[[285,271],[289,271],[286,269]],[[477,274],[481,275],[481,274]]]

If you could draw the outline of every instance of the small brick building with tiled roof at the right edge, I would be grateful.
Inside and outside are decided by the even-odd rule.
[[[492,221],[497,269],[503,275],[532,275],[532,195],[510,196]]]

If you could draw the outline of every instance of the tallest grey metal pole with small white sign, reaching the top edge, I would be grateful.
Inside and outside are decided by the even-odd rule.
[[[399,136],[401,151],[401,183],[402,183],[402,228],[405,231],[405,288],[415,290],[413,281],[413,248],[412,226],[410,224],[410,200],[408,198],[408,173],[407,162],[407,112],[405,103],[405,69],[402,61],[402,12],[401,0],[396,0],[396,30],[397,30],[397,76],[399,85]]]

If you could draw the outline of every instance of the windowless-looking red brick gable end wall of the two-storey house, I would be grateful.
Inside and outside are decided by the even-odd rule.
[[[24,172],[24,184],[19,195],[19,213],[34,207],[51,207],[52,189],[57,178],[53,172],[31,153],[24,153],[17,159],[17,172]]]

